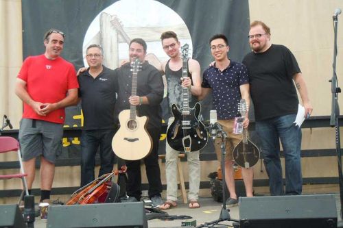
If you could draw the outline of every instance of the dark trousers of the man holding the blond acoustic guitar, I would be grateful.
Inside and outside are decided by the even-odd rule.
[[[145,172],[147,174],[147,181],[149,182],[149,197],[160,196],[162,192],[162,181],[160,166],[158,164],[158,143],[160,140],[161,129],[147,129],[152,137],[152,151],[147,157],[143,158],[145,164]],[[129,197],[135,197],[137,200],[141,199],[141,160],[128,161],[128,183],[126,184],[126,191]]]

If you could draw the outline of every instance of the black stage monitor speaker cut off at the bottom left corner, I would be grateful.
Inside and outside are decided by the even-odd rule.
[[[0,205],[0,227],[25,228],[23,215],[16,204]]]

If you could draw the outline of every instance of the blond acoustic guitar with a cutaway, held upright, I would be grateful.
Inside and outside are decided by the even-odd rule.
[[[139,59],[134,60],[132,67],[131,96],[137,95],[137,74],[141,68]],[[141,160],[152,151],[152,138],[147,132],[147,116],[137,116],[136,105],[130,110],[119,113],[120,127],[112,140],[115,154],[123,160]]]

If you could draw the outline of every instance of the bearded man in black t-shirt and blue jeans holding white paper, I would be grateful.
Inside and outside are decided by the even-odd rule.
[[[265,23],[252,22],[248,38],[252,52],[245,56],[243,63],[248,68],[256,131],[261,140],[270,194],[301,194],[301,129],[294,121],[299,103],[296,88],[305,116],[313,110],[305,80],[292,52],[283,45],[272,45],[270,28]],[[285,155],[285,191],[279,140]]]

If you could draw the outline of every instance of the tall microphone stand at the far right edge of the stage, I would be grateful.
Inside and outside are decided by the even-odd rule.
[[[332,101],[331,101],[331,118],[330,118],[330,126],[335,127],[335,144],[336,144],[336,153],[338,159],[338,181],[340,183],[340,214],[341,218],[343,217],[342,214],[342,207],[343,207],[343,175],[342,175],[342,154],[341,154],[341,146],[340,146],[340,125],[338,123],[338,116],[340,116],[340,106],[338,105],[338,93],[341,92],[340,87],[338,87],[338,80],[336,75],[336,57],[337,57],[337,25],[338,25],[338,14],[333,16],[333,31],[334,31],[334,42],[333,42],[333,75],[332,79],[329,81],[331,82],[331,93],[332,93]]]

